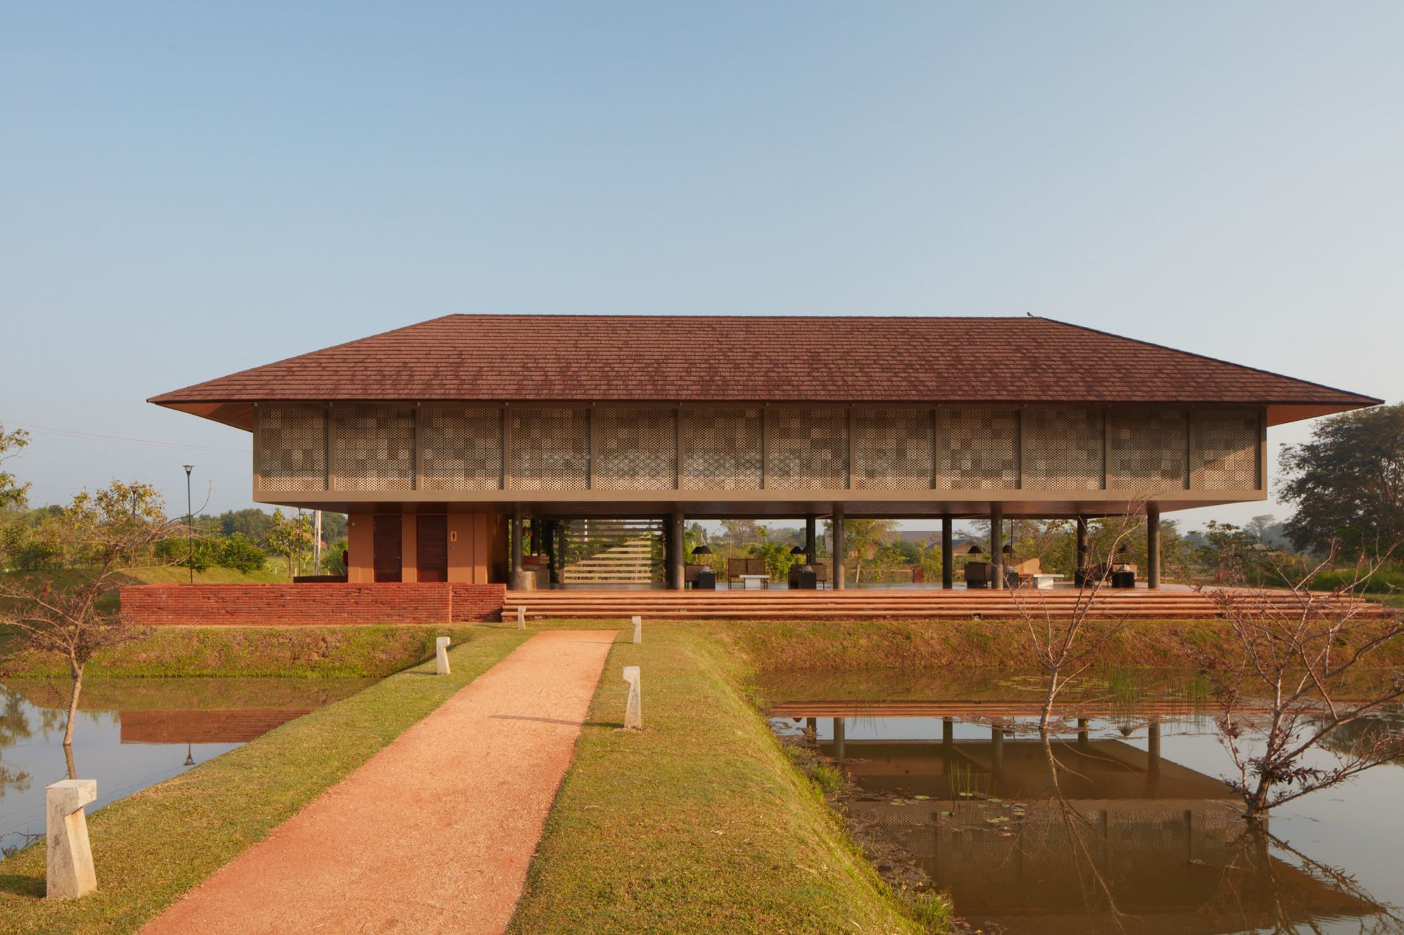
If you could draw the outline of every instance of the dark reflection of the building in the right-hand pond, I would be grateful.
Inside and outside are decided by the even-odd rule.
[[[882,719],[880,733],[900,733],[903,720],[932,727]],[[1085,722],[1077,738],[1050,747],[998,722],[988,740],[955,740],[951,720],[942,740],[855,740],[845,727],[835,717],[821,750],[844,758],[866,793],[852,816],[914,854],[972,921],[1116,928],[1105,910],[1088,914],[1105,906],[1104,884],[1120,913],[1137,917],[1126,931],[1223,932],[1372,911],[1271,856],[1226,783],[1161,757],[1157,720],[1147,750],[1094,740]]]

